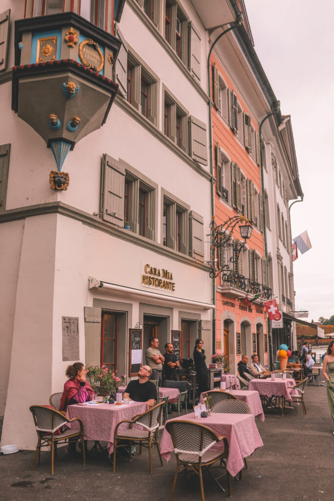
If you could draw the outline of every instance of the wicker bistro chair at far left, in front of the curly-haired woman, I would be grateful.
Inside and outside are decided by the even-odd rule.
[[[51,397],[50,397],[51,398]],[[41,448],[51,448],[51,474],[54,474],[54,450],[58,443],[64,443],[72,437],[80,437],[82,443],[82,454],[84,464],[86,464],[85,445],[84,445],[84,426],[78,417],[68,419],[62,412],[51,409],[45,405],[32,405],[30,411],[33,413],[36,426],[38,442],[32,469],[35,467],[35,461],[38,454],[38,463],[40,464]],[[78,421],[80,430],[74,431],[64,425]]]

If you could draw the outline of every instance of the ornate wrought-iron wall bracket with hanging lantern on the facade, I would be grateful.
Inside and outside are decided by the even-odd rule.
[[[239,242],[233,240],[233,231],[238,223],[244,222],[243,225],[239,226],[241,238],[244,242]],[[246,245],[247,238],[250,237],[252,232],[252,226],[248,219],[243,215],[229,217],[224,223],[216,225],[215,218],[212,216],[210,223],[211,229],[211,247],[210,247],[210,272],[211,278],[218,277],[222,272],[228,274],[230,267],[225,264],[226,251],[232,249],[232,256],[229,258],[229,262],[233,263],[236,267],[238,259],[242,249]]]

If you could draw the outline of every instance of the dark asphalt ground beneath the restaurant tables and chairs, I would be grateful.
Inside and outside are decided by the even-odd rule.
[[[305,390],[307,414],[301,406],[287,410],[283,417],[272,410],[265,412],[265,421],[256,419],[263,447],[250,456],[248,469],[240,481],[232,479],[235,501],[299,501],[301,499],[328,500],[334,498],[334,436],[326,389],[308,385]],[[176,416],[171,414],[170,417]],[[37,436],[36,436],[37,439]],[[93,442],[89,442],[91,448]],[[53,501],[72,499],[100,501],[133,499],[157,501],[169,499],[176,460],[164,460],[161,467],[154,449],[153,474],[149,472],[147,449],[131,462],[128,456],[118,454],[116,473],[105,451],[90,453],[86,466],[79,456],[73,461],[65,447],[58,451],[55,474],[51,475],[51,455],[41,453],[41,463],[31,470],[33,451],[0,454],[0,499],[2,501]],[[174,493],[175,501],[201,499],[199,482],[195,477],[185,482],[179,478]],[[207,501],[227,498],[206,473],[203,477]],[[225,477],[222,478],[226,484]]]

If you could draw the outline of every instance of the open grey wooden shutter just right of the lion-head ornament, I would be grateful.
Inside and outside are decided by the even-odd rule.
[[[124,226],[125,168],[104,154],[102,160],[101,212],[105,221]],[[116,212],[113,215],[113,212]]]

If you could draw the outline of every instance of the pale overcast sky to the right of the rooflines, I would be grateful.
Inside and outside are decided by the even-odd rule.
[[[334,315],[334,2],[245,5],[255,51],[282,114],[291,115],[304,193],[291,208],[292,238],[307,229],[312,244],[293,264],[295,307],[317,321]]]

